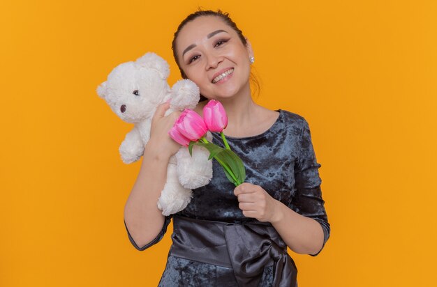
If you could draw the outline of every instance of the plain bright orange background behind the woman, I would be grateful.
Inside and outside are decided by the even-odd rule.
[[[170,43],[198,6],[255,50],[256,101],[309,121],[332,235],[290,253],[299,286],[431,286],[436,257],[436,1],[3,1],[0,286],[156,286],[170,234],[128,242],[140,163],[96,94],[119,63]],[[292,228],[292,226],[290,226]]]

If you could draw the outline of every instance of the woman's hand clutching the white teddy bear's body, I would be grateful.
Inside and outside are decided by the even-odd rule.
[[[150,139],[147,146],[150,146],[151,150],[160,157],[171,157],[181,147],[168,134],[181,112],[173,111],[168,116],[164,116],[169,107],[170,102],[160,104],[151,118]]]

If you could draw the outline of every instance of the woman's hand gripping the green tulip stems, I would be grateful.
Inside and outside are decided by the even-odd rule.
[[[276,222],[279,220],[279,206],[276,199],[259,185],[242,183],[235,187],[234,194],[238,197],[238,207],[245,217],[254,217],[260,222]]]

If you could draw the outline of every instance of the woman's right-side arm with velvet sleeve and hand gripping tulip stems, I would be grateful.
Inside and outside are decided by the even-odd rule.
[[[289,206],[250,183],[236,187],[235,195],[245,216],[272,223],[292,251],[316,256],[329,238],[330,227],[320,189],[320,164],[313,150],[309,125],[303,118],[299,149],[295,162],[296,190]]]

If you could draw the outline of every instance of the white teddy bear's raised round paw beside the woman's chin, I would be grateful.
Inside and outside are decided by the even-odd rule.
[[[173,109],[194,109],[200,100],[199,87],[189,79],[181,79],[172,86]]]

